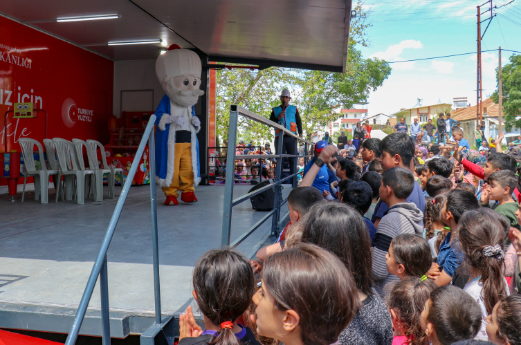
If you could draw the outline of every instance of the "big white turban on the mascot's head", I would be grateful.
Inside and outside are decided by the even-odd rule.
[[[175,45],[172,45],[175,46]],[[160,83],[165,77],[179,77],[179,75],[193,75],[201,77],[201,59],[192,50],[172,47],[156,60],[156,75]]]

